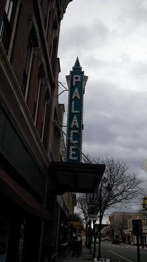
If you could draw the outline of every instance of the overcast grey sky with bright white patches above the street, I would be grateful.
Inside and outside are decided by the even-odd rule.
[[[122,158],[147,181],[141,169],[147,158],[147,1],[69,3],[61,21],[59,81],[66,83],[77,56],[88,76],[82,151]],[[65,104],[66,124],[68,92],[59,103]]]

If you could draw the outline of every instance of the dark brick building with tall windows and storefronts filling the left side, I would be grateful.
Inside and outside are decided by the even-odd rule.
[[[69,2],[1,0],[0,261],[55,260],[59,221],[74,211],[72,194],[68,206],[48,174],[51,161],[64,161],[53,120],[62,125],[57,52]]]

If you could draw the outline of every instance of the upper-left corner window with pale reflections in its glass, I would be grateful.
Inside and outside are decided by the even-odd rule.
[[[0,38],[2,40],[3,46],[7,54],[9,50],[9,44],[10,44],[11,33],[12,33],[15,3],[16,1],[7,0],[2,27],[0,31]]]

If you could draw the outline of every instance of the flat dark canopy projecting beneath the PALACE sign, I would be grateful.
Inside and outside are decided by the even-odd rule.
[[[51,162],[48,168],[50,192],[95,193],[105,171],[103,164]]]

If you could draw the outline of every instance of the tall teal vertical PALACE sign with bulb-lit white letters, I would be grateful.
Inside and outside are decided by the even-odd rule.
[[[88,76],[84,76],[79,59],[75,62],[70,75],[66,76],[69,89],[67,136],[82,150],[83,95]],[[66,162],[79,163],[81,152],[66,138]]]

